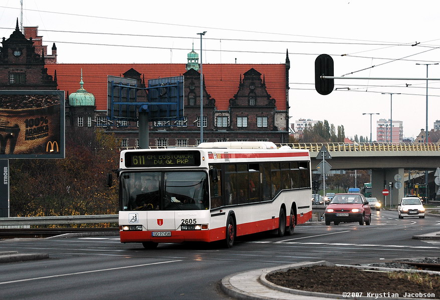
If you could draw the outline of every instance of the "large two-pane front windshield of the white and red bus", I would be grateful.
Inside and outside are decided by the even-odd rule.
[[[209,208],[207,174],[202,171],[124,172],[121,210]]]

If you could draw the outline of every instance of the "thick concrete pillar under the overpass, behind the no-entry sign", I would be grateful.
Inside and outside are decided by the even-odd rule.
[[[372,186],[372,196],[376,197],[382,202],[383,207],[389,208],[391,206],[397,206],[399,200],[404,196],[403,188],[403,168],[387,168],[387,169],[373,169],[371,171],[371,186]],[[401,187],[395,187],[394,176],[400,175]],[[390,188],[390,183],[392,188]],[[386,188],[390,193],[386,196],[382,194],[382,190]]]

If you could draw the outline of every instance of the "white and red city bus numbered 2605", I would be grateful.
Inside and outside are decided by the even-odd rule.
[[[278,229],[292,234],[312,216],[307,150],[272,142],[123,150],[121,242],[223,241]]]

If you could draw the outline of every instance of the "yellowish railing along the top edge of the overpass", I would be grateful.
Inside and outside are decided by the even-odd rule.
[[[310,142],[310,143],[279,143],[277,146],[287,145],[293,149],[306,149],[318,152],[323,145],[333,151],[440,151],[440,143],[432,142]]]

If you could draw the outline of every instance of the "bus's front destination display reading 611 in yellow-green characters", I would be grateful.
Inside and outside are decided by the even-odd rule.
[[[127,152],[125,154],[127,167],[154,166],[198,166],[200,152],[198,151],[155,151]]]

